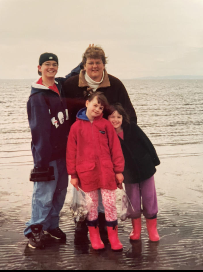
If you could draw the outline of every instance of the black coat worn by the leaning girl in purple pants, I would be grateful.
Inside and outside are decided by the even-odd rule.
[[[160,164],[156,150],[142,129],[131,122],[123,128],[124,140],[119,137],[125,158],[124,183],[140,183],[156,172]]]

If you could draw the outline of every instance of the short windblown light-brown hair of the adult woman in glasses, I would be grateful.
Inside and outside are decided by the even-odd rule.
[[[107,63],[107,57],[104,50],[100,46],[89,46],[82,55],[82,63],[86,64],[88,58],[101,58],[103,65]]]

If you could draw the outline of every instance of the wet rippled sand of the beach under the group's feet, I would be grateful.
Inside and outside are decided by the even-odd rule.
[[[155,173],[160,241],[149,242],[142,217],[141,239],[130,243],[131,221],[118,220],[122,252],[92,250],[88,240],[74,237],[70,213],[71,185],[60,213],[65,244],[44,250],[28,248],[23,235],[30,218],[33,183],[30,165],[1,166],[1,270],[202,270],[203,269],[203,145],[156,146],[161,165]],[[119,189],[117,207],[119,216]]]

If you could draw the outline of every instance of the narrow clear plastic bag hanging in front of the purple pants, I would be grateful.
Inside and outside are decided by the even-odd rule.
[[[132,214],[134,211],[130,199],[128,198],[124,188],[121,191],[121,207],[120,207],[120,218],[121,221],[126,220],[126,218]]]

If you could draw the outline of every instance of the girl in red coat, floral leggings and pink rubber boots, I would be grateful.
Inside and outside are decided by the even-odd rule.
[[[107,232],[111,248],[122,250],[117,236],[117,184],[123,182],[124,157],[112,124],[102,118],[108,105],[102,92],[94,92],[86,101],[86,108],[77,113],[67,142],[67,170],[71,184],[78,186],[92,199],[87,215],[92,248],[103,249],[98,228],[98,189],[105,208]]]

